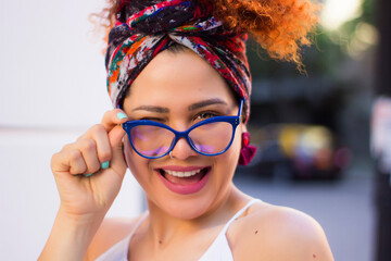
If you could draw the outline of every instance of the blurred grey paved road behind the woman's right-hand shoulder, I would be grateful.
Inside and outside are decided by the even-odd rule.
[[[235,184],[253,197],[315,217],[337,261],[373,261],[375,206],[370,176],[368,166],[353,167],[338,182],[292,182],[238,173]]]

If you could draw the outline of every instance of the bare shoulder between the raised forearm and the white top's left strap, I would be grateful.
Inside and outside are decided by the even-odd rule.
[[[116,243],[130,235],[138,217],[108,217],[97,231],[88,250],[86,260],[96,260]]]

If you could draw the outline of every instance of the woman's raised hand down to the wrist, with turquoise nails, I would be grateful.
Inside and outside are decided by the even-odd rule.
[[[62,214],[76,220],[104,216],[126,172],[122,151],[125,132],[119,125],[126,121],[122,110],[108,111],[101,124],[52,157]]]

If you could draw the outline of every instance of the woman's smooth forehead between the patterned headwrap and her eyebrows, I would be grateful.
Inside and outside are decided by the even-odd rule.
[[[219,98],[235,102],[232,90],[206,61],[191,50],[159,53],[139,74],[130,87],[125,104],[192,103]]]

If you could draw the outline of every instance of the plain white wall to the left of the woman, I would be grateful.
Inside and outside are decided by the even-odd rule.
[[[102,44],[88,14],[103,1],[0,2],[0,260],[35,260],[59,196],[50,158],[111,109]],[[136,215],[130,173],[110,215]]]

